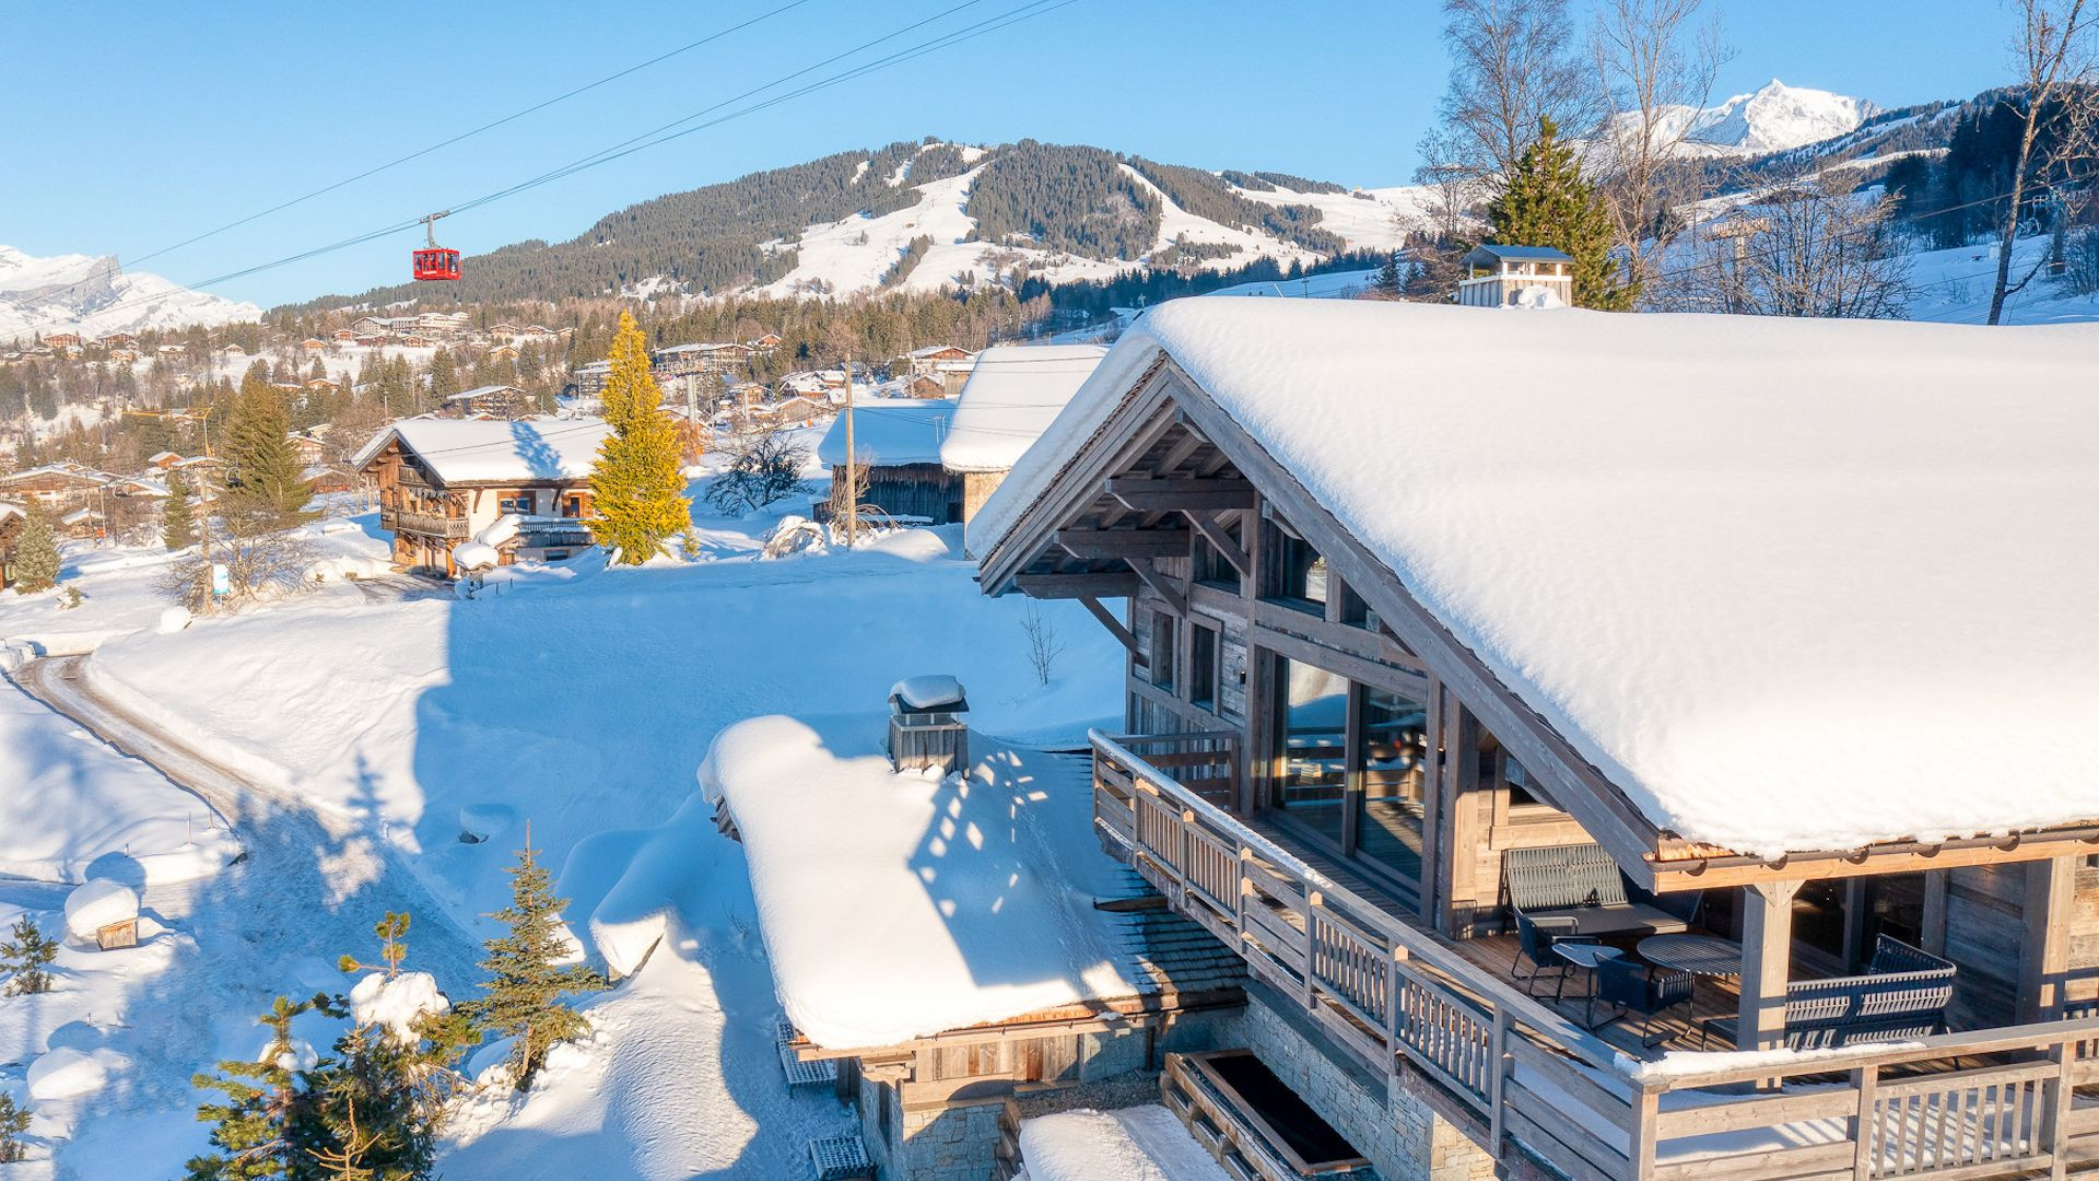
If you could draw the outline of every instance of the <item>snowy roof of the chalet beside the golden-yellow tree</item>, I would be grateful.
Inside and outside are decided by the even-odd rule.
[[[359,448],[351,467],[401,439],[445,483],[586,479],[611,431],[602,418],[403,418]]]

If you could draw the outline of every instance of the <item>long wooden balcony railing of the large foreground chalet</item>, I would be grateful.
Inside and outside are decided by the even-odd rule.
[[[1343,1053],[1497,1158],[1585,1179],[2017,1177],[2099,1164],[2099,1017],[1803,1057],[1660,1055],[1581,1000],[1532,998],[1513,941],[1446,939],[1396,899],[1228,809],[1232,733],[1091,735],[1094,826],[1173,910]],[[1581,986],[1570,986],[1576,992]],[[1711,981],[1700,981],[1709,990]],[[1732,1011],[1725,988],[1692,1017]],[[1700,1049],[1692,1023],[1667,1030]],[[1685,1040],[1690,1038],[1690,1040]]]

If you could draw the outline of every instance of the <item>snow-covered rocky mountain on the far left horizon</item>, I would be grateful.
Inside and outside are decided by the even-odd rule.
[[[149,273],[126,273],[113,254],[38,258],[0,246],[0,340],[38,332],[103,336],[260,319],[262,309],[189,290]]]

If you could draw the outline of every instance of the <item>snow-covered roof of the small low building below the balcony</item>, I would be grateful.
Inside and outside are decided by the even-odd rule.
[[[722,729],[699,780],[743,838],[781,1007],[825,1049],[890,1047],[1136,996],[1083,767],[976,750],[966,784],[894,773],[882,712]],[[1045,937],[1045,933],[1056,933]]]

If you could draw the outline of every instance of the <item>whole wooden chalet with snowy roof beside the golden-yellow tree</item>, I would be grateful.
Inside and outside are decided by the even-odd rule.
[[[590,467],[609,433],[596,418],[405,418],[351,467],[378,488],[395,565],[449,578],[451,551],[508,513],[523,527],[497,546],[506,565],[588,548]]]

